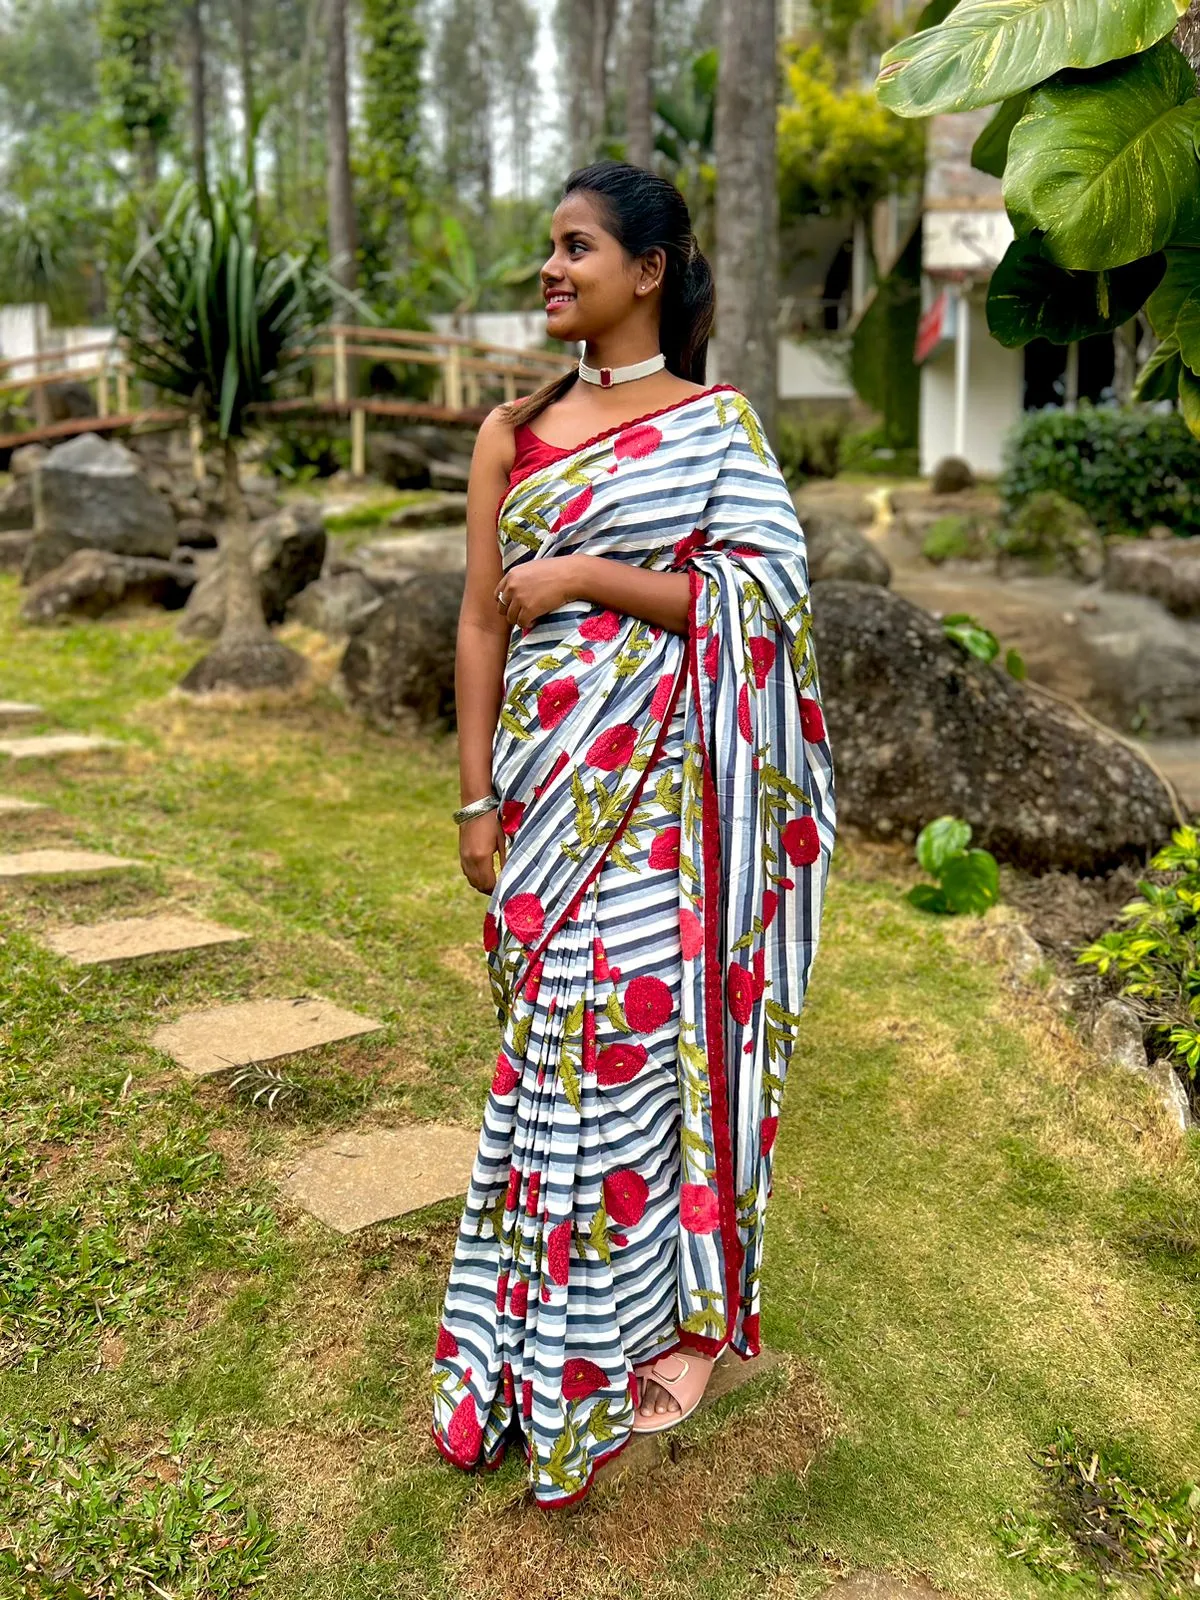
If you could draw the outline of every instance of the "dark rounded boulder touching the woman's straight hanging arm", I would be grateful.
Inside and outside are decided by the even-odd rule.
[[[382,728],[454,722],[462,573],[421,573],[384,597],[346,646],[338,693]]]

